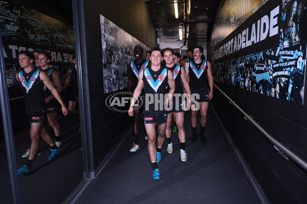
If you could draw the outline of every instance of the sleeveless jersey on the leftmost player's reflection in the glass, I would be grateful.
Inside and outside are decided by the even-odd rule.
[[[41,111],[45,108],[44,84],[39,77],[40,70],[33,69],[29,73],[24,70],[18,73],[18,79],[25,95],[27,113]]]

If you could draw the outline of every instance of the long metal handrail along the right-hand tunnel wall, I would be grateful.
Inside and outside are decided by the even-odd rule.
[[[215,83],[214,87],[218,89],[229,101],[230,103],[239,110],[245,118],[250,121],[262,135],[264,135],[272,144],[274,144],[280,151],[286,154],[290,159],[296,162],[300,167],[302,167],[305,171],[307,171],[307,162],[297,156],[293,151],[285,147],[281,142],[277,141],[273,138],[267,131],[265,131],[251,116],[249,116],[244,110],[242,110],[238,105],[236,105],[235,101],[233,101],[224,91],[222,91]]]

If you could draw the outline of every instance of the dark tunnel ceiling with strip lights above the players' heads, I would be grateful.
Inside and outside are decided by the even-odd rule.
[[[189,48],[203,46],[214,22],[221,1],[186,0],[178,1],[179,18],[175,18],[174,1],[145,0],[153,27],[163,42],[178,42],[179,27],[183,28],[183,42]]]

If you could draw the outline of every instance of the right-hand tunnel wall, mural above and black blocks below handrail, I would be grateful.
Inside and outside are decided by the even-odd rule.
[[[297,23],[292,25],[290,30],[296,29],[297,33],[300,33],[300,39],[290,41],[286,33],[287,18],[292,15],[291,11],[296,3],[302,4],[303,12],[306,13],[306,1],[288,1],[283,5],[281,1],[265,1],[263,4],[262,1],[237,1],[233,5],[230,1],[225,1],[223,5],[226,6],[221,6],[216,16],[208,55],[214,83],[272,137],[306,161],[307,101],[306,93],[303,92],[306,77],[306,29],[298,30],[300,22],[297,21],[297,12],[293,15]],[[234,49],[231,40],[235,40],[238,34],[242,35],[243,31],[246,31],[245,40],[251,40],[253,24],[257,29],[258,20],[261,21],[265,15],[272,15],[271,11],[274,8],[278,8],[277,23],[274,27],[278,28],[278,34],[268,34],[262,42],[258,42],[256,37],[250,46]],[[269,19],[272,19],[271,16]],[[306,19],[305,15],[303,19]],[[286,53],[289,54],[288,57]],[[300,56],[294,55],[295,53],[300,53]],[[294,62],[294,65],[287,66],[286,63],[291,62]],[[259,79],[260,76],[264,77],[262,81]],[[282,80],[286,81],[286,93],[277,97],[277,89],[281,87]],[[216,107],[218,116],[227,127],[269,201],[306,203],[306,171],[291,159],[279,154],[273,144],[265,139],[217,89],[214,89],[212,105]]]

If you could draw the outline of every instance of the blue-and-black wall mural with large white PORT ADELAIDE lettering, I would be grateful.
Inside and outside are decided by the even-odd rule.
[[[215,41],[214,80],[302,104],[306,19],[304,0],[267,2],[223,40]]]

